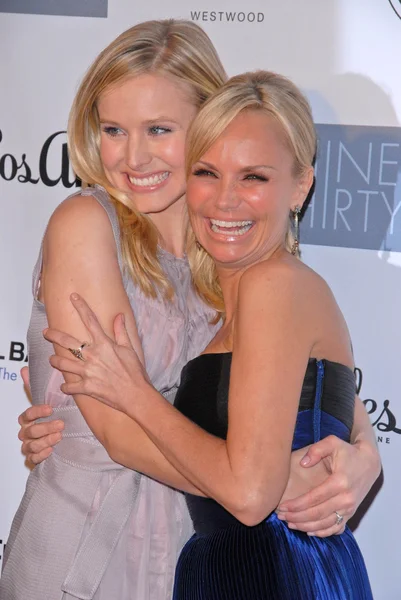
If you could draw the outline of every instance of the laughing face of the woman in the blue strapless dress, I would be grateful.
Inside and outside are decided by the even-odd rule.
[[[241,112],[192,166],[187,201],[194,233],[216,264],[246,268],[283,248],[290,210],[302,206],[312,168],[294,176],[279,123]]]

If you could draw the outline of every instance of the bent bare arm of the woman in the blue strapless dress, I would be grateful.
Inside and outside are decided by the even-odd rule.
[[[125,410],[185,478],[249,525],[277,506],[286,486],[312,347],[311,328],[303,318],[308,302],[300,305],[300,286],[294,286],[292,273],[281,268],[267,274],[259,271],[251,269],[241,280],[227,441],[209,435],[170,406],[146,382],[128,348],[115,348],[116,364],[110,367],[110,355],[101,367],[107,371],[101,388],[96,386],[96,370],[82,385],[62,388],[69,393],[84,389]],[[51,336],[55,340],[55,332]],[[63,338],[58,339],[64,345]],[[56,357],[52,364],[85,371],[76,360]]]

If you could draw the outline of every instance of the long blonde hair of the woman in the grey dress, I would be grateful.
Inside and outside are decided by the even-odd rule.
[[[131,27],[99,54],[81,82],[69,117],[69,152],[84,184],[102,185],[116,207],[129,274],[148,297],[155,297],[157,290],[171,297],[171,285],[157,257],[157,228],[111,186],[100,159],[99,96],[110,86],[144,73],[170,76],[186,84],[197,107],[226,80],[211,40],[195,23],[170,19]]]

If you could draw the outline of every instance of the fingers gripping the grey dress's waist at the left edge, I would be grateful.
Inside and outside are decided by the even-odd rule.
[[[28,367],[21,369],[21,377],[25,388],[29,391]],[[21,450],[34,465],[38,465],[50,456],[52,446],[55,446],[61,440],[61,432],[64,429],[63,421],[36,423],[36,419],[49,417],[52,412],[52,408],[48,404],[39,404],[27,408],[18,417],[18,423],[21,426],[18,432],[18,438],[22,442]]]

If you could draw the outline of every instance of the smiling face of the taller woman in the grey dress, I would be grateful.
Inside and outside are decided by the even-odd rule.
[[[141,213],[183,202],[185,136],[197,112],[189,88],[161,75],[139,75],[106,90],[97,107],[109,182]]]

